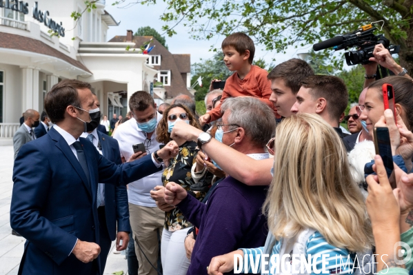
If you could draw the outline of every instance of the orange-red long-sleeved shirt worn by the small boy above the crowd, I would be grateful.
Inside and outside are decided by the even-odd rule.
[[[237,96],[254,96],[263,103],[270,106],[274,110],[274,116],[276,118],[281,118],[281,116],[276,112],[274,104],[269,100],[272,90],[271,90],[271,81],[267,79],[268,72],[264,69],[259,68],[257,65],[252,65],[250,72],[240,79],[238,73],[234,72],[230,77],[228,77],[225,82],[225,87],[223,88],[221,103],[228,99],[228,97],[237,97]],[[221,106],[217,106],[212,109],[210,112],[210,120],[216,121],[216,119],[221,118]]]

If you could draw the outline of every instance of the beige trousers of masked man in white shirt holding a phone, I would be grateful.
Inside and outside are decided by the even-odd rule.
[[[165,212],[158,207],[145,207],[129,203],[129,215],[133,239],[137,241],[134,245],[139,261],[138,274],[157,275],[157,270],[152,265],[157,267],[159,252],[158,234],[159,236],[162,235]]]

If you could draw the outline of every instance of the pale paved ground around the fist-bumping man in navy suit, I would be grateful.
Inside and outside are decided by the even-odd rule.
[[[23,255],[23,237],[13,236],[10,227],[10,201],[12,198],[13,147],[0,146],[0,275],[17,274]],[[128,271],[122,254],[113,254],[114,243],[106,263],[105,274]]]

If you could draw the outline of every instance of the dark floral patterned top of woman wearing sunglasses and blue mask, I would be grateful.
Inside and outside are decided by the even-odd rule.
[[[194,184],[191,176],[191,167],[195,162],[197,152],[195,148],[197,143],[187,141],[179,146],[178,155],[170,161],[170,165],[163,170],[162,182],[165,186],[170,181],[179,183],[189,195],[198,198],[200,201],[205,196],[204,192],[194,192],[190,190],[190,185]],[[177,231],[192,224],[183,216],[179,208],[165,212],[165,229],[168,231]]]

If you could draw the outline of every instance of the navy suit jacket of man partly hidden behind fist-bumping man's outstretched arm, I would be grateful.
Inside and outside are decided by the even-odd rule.
[[[99,131],[97,131],[97,135],[99,136],[103,156],[117,165],[122,164],[117,140]],[[131,232],[126,186],[105,185],[105,216],[110,240],[114,241],[117,231]]]

